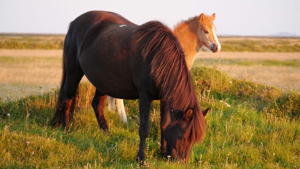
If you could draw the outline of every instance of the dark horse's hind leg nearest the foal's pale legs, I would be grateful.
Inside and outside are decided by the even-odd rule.
[[[99,127],[103,130],[108,130],[106,120],[104,118],[104,106],[107,95],[103,94],[101,91],[96,89],[94,99],[92,101],[92,106],[95,111],[95,115],[99,124]]]

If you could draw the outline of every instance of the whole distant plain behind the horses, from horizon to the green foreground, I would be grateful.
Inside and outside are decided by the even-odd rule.
[[[64,35],[0,35],[2,45],[12,45],[5,49],[0,44],[0,97],[6,100],[10,91],[10,97],[17,99],[40,89],[56,88],[61,78],[63,40]],[[219,41],[225,49],[217,54],[200,52],[195,63],[217,66],[234,78],[247,78],[280,89],[300,89],[300,53],[228,52],[232,46],[244,45],[245,50],[250,50],[246,48],[249,44],[259,49],[267,45],[295,46],[300,44],[299,38],[220,37]],[[22,93],[21,89],[27,92]]]

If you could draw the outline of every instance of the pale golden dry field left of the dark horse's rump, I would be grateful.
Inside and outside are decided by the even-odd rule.
[[[0,97],[15,100],[57,88],[61,57],[62,50],[0,49]]]

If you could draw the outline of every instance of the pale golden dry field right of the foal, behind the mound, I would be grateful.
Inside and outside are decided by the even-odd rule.
[[[200,52],[196,63],[215,66],[233,78],[244,78],[279,89],[300,90],[300,53]]]

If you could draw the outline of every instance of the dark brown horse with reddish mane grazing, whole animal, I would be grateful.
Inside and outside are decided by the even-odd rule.
[[[158,21],[136,25],[119,14],[90,11],[70,23],[64,41],[63,75],[52,125],[69,128],[70,111],[82,76],[96,87],[92,107],[99,127],[108,130],[104,118],[107,95],[140,99],[140,148],[145,159],[152,100],[161,104],[164,155],[187,161],[196,141],[205,134],[204,115],[193,91],[182,47]],[[169,119],[170,122],[166,119]]]

